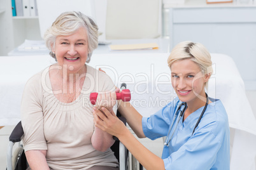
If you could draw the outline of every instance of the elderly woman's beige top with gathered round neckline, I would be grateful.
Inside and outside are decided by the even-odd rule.
[[[94,117],[90,93],[113,91],[108,75],[86,65],[87,73],[80,97],[72,103],[55,98],[50,83],[49,67],[27,82],[22,96],[24,149],[47,150],[46,160],[52,169],[88,169],[92,166],[117,167],[109,148],[99,152],[92,147]]]

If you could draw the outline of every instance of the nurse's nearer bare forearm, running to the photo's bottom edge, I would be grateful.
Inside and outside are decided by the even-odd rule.
[[[123,134],[117,136],[118,139],[125,145],[131,154],[145,167],[147,170],[161,170],[164,168],[164,160],[153,154],[144,147],[129,131],[126,129]]]

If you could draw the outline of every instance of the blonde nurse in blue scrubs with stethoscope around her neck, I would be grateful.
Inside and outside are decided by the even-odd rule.
[[[208,50],[200,43],[180,42],[167,60],[177,94],[150,117],[142,117],[129,103],[118,110],[139,138],[166,136],[162,158],[131,134],[113,112],[94,108],[96,127],[119,138],[134,157],[152,169],[229,169],[229,122],[222,102],[206,94],[213,69]]]

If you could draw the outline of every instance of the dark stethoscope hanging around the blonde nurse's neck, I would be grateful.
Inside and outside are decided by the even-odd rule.
[[[203,117],[203,115],[204,115],[204,112],[205,112],[205,110],[206,110],[206,108],[207,108],[209,98],[208,98],[207,93],[205,93],[205,95],[206,95],[206,103],[205,103],[205,105],[204,105],[204,109],[203,109],[203,111],[202,111],[200,117],[199,117],[198,120],[197,120],[196,126],[195,126],[195,128],[194,128],[194,130],[193,130],[191,136],[193,135],[195,129],[197,128],[197,126],[198,126],[199,122],[201,121],[201,119],[202,119],[202,117]],[[183,107],[183,109],[181,110],[181,107],[182,107],[182,106],[184,106],[184,107]],[[167,134],[166,142],[164,143],[164,145],[166,145],[167,147],[169,147],[169,142],[170,142],[171,139],[173,138],[173,134],[174,134],[174,132],[176,131],[176,128],[177,128],[177,126],[178,126],[178,124],[179,124],[179,122],[180,122],[180,119],[181,119],[181,117],[183,117],[184,112],[185,112],[186,109],[187,109],[187,103],[185,103],[185,102],[181,103],[180,106],[178,107],[178,110],[176,111],[176,114],[175,114],[175,116],[174,116],[173,122],[172,122],[172,124],[171,124],[171,128],[169,129],[169,132],[168,132],[168,134]],[[176,126],[175,126],[175,128],[174,128],[173,134],[171,134],[171,138],[168,140],[169,134],[170,134],[170,132],[171,132],[171,129],[173,129],[173,124],[174,124],[174,121],[175,121],[175,119],[176,119],[176,117],[177,117],[177,115],[178,115],[178,112],[180,112],[180,116],[179,116],[178,122],[177,122],[177,124],[176,124]]]

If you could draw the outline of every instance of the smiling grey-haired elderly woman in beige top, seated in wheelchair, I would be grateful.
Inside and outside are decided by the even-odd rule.
[[[57,63],[32,76],[22,96],[31,169],[118,169],[113,136],[94,126],[89,100],[91,92],[115,89],[108,75],[85,64],[97,48],[97,30],[91,18],[75,11],[62,13],[46,30]]]

